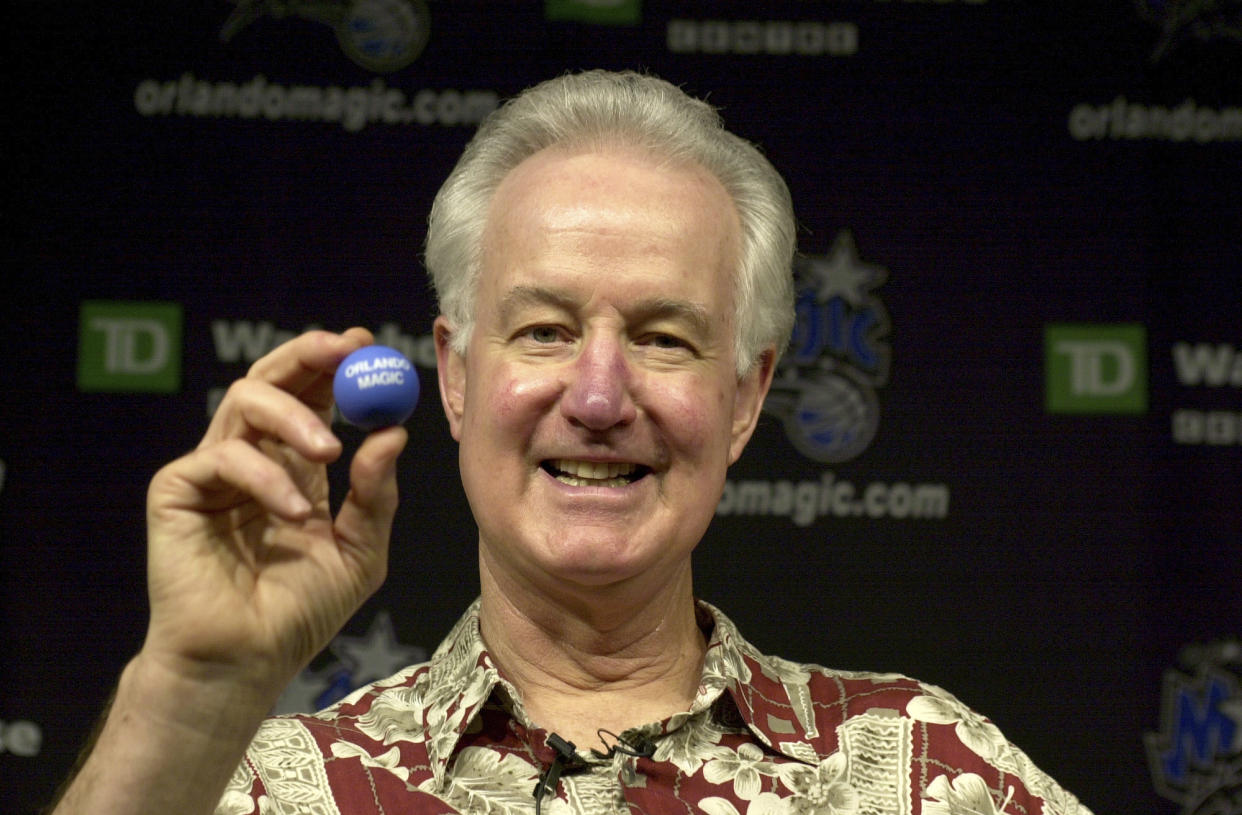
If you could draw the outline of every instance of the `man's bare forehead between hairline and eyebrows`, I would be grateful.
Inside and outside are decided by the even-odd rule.
[[[578,262],[599,277],[693,276],[732,293],[739,246],[733,200],[705,169],[621,148],[548,149],[514,168],[492,198],[483,285],[504,288]]]

